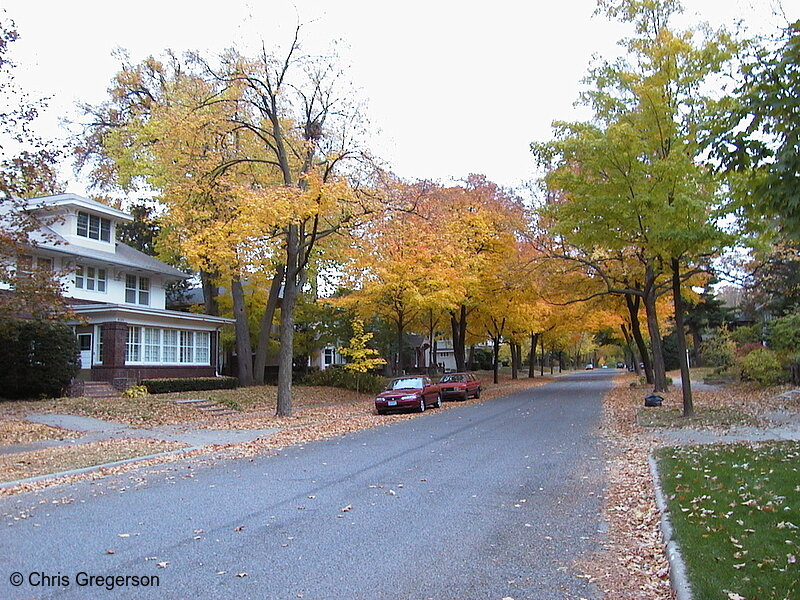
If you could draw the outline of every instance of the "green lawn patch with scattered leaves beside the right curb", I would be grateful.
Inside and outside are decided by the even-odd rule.
[[[657,456],[695,598],[800,598],[800,442]]]

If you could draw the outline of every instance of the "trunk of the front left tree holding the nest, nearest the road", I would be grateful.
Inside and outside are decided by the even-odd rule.
[[[292,367],[294,358],[294,307],[297,302],[297,283],[300,263],[300,230],[289,225],[286,236],[286,283],[281,305],[281,348],[278,353],[278,402],[275,414],[292,414]]]

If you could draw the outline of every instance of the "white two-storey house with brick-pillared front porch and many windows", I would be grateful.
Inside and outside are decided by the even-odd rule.
[[[190,276],[116,240],[130,215],[75,194],[35,198],[29,208],[47,224],[17,268],[63,273],[82,379],[121,386],[218,374],[219,332],[231,319],[166,310],[165,288]]]

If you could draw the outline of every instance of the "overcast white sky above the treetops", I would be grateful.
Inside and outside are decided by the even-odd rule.
[[[777,0],[684,0],[687,19],[741,18],[764,28]],[[790,19],[797,0],[784,0]],[[135,62],[171,48],[217,52],[232,45],[286,47],[298,19],[308,51],[342,40],[350,78],[376,129],[372,149],[406,178],[483,173],[501,185],[530,180],[529,144],[553,120],[579,118],[572,104],[592,54],[616,53],[626,33],[592,17],[595,0],[0,0],[20,40],[18,83],[50,98],[39,120],[64,135],[75,103],[106,96],[124,48]],[[585,114],[583,115],[585,117]],[[69,168],[68,191],[86,193]]]

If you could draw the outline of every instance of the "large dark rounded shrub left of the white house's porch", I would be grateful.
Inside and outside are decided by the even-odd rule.
[[[80,370],[72,328],[50,321],[0,321],[0,395],[55,398]]]

